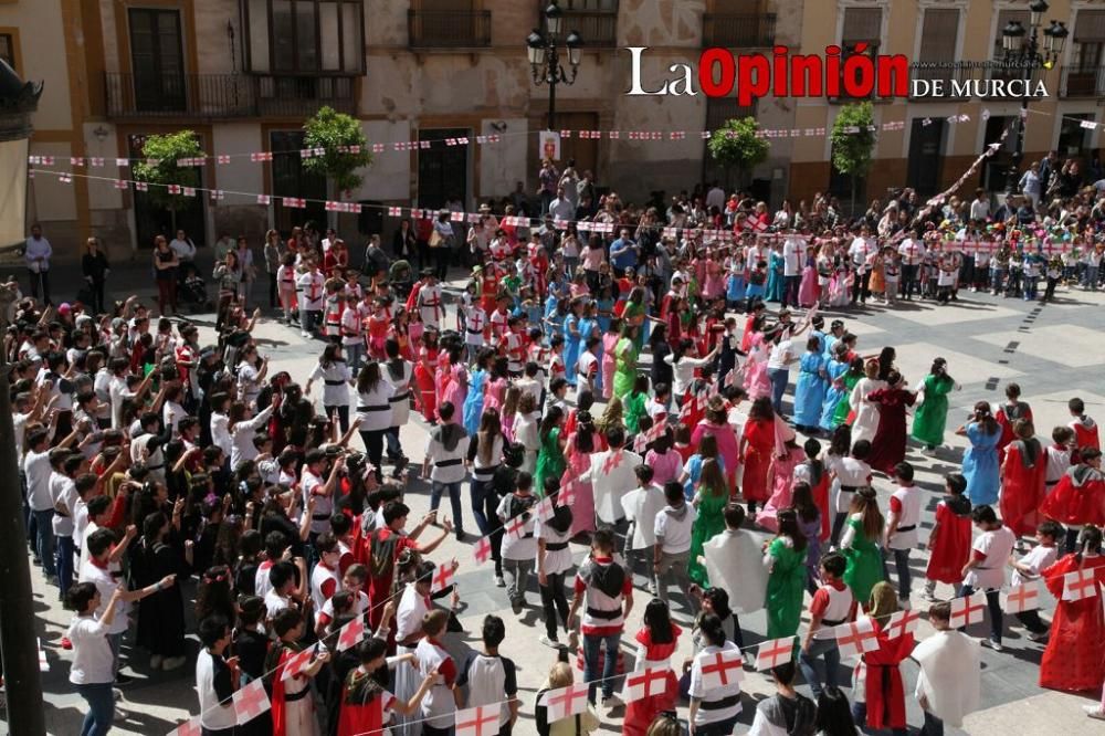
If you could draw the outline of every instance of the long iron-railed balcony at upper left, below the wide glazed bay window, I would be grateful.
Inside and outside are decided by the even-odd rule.
[[[356,112],[357,77],[242,74],[104,75],[112,119],[305,117],[328,105]]]

